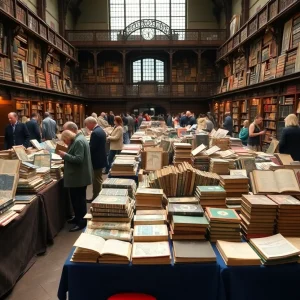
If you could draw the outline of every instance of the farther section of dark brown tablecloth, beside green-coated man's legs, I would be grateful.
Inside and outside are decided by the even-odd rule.
[[[63,179],[49,184],[38,193],[45,207],[47,218],[47,242],[53,243],[54,237],[63,228],[69,210],[67,190]]]

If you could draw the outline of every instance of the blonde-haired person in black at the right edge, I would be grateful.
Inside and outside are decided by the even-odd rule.
[[[300,161],[300,127],[296,115],[290,114],[285,119],[285,128],[279,141],[279,152],[290,154],[295,161]]]

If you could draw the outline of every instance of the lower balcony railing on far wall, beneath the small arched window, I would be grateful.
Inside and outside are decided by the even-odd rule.
[[[127,84],[93,84],[81,85],[86,97],[89,98],[182,98],[210,97],[215,94],[217,82],[198,83],[139,83]]]

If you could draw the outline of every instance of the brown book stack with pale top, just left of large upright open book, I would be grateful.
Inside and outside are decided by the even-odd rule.
[[[241,197],[249,193],[249,179],[246,176],[220,175],[220,183],[227,197]]]

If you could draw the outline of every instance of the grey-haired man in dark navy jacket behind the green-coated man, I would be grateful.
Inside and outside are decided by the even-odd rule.
[[[85,119],[85,126],[92,131],[90,139],[90,151],[91,159],[94,170],[93,179],[93,199],[87,200],[93,201],[100,193],[102,188],[102,169],[107,166],[106,158],[106,133],[97,124],[97,120],[93,117]]]

